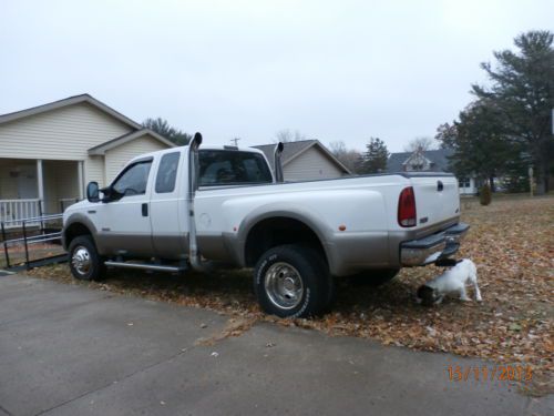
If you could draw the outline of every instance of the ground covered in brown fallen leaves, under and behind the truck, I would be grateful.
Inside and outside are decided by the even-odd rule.
[[[66,264],[29,274],[103,291],[209,308],[255,323],[317,328],[330,335],[377,339],[384,345],[448,352],[522,363],[534,369],[534,392],[552,392],[554,374],[554,199],[497,199],[489,206],[462,202],[462,221],[471,225],[459,257],[478,265],[483,303],[447,300],[425,308],[417,288],[442,273],[435,266],[404,268],[381,287],[339,280],[331,313],[315,319],[277,319],[260,313],[248,271],[185,276],[111,271],[100,283],[72,280]],[[470,294],[472,294],[470,292]],[[240,331],[246,331],[244,325]],[[230,335],[239,335],[236,331]]]

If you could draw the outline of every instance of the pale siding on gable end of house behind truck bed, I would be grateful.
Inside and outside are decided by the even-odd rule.
[[[342,176],[342,171],[320,150],[310,148],[283,168],[285,181],[309,181]]]

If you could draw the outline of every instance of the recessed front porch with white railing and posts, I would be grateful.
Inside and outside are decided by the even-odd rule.
[[[83,199],[83,162],[0,159],[0,222],[63,212]]]

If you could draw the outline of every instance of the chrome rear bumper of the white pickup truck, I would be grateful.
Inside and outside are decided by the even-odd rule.
[[[451,256],[458,252],[460,241],[469,229],[468,224],[458,223],[440,233],[403,242],[400,245],[400,263],[402,266],[422,266]]]

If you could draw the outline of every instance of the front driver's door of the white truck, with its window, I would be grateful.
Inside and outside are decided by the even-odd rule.
[[[98,206],[99,233],[107,253],[152,256],[148,206],[152,161],[153,158],[148,158],[126,166],[112,184],[122,196]]]

